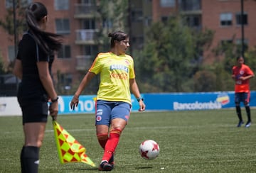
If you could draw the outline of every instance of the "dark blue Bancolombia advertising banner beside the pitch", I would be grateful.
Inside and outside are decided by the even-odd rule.
[[[256,106],[255,91],[251,91],[250,95],[250,106]],[[234,91],[144,94],[144,97],[146,110],[152,111],[206,110],[235,107]]]

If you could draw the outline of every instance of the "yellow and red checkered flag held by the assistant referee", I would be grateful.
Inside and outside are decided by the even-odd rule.
[[[60,163],[84,162],[95,167],[92,160],[85,154],[85,147],[78,143],[78,141],[56,121],[53,121],[53,128]]]

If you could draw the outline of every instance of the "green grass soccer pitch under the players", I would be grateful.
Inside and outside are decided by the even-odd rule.
[[[247,121],[243,108],[243,118]],[[252,121],[255,110],[252,109]],[[53,126],[48,118],[39,172],[98,172],[84,163],[60,164]],[[58,123],[87,149],[99,164],[94,115],[61,115]],[[236,128],[234,109],[132,113],[116,150],[112,172],[256,172],[256,123]],[[20,116],[0,117],[0,172],[20,172],[23,145]],[[156,160],[140,157],[139,144],[146,139],[160,146]]]

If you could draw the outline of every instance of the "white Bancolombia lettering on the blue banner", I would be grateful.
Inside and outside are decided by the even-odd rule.
[[[218,101],[194,102],[194,103],[178,103],[174,101],[174,110],[203,110],[203,109],[220,109],[222,105]]]

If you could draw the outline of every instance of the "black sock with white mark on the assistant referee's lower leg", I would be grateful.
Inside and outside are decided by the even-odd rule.
[[[39,147],[23,147],[21,150],[21,172],[37,173],[39,164]]]

